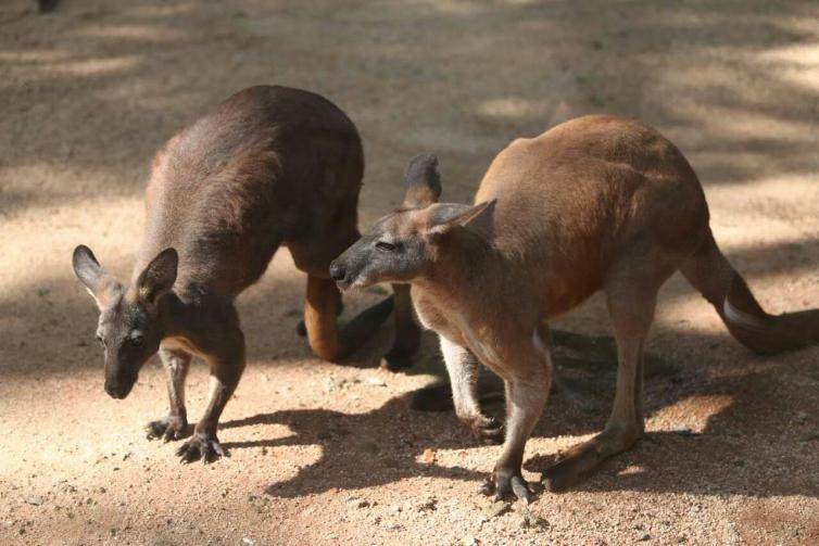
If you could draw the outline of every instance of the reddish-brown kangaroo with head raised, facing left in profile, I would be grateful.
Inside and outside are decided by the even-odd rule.
[[[763,310],[714,241],[693,169],[651,128],[588,116],[515,140],[492,162],[474,206],[437,203],[437,164],[432,155],[410,163],[401,207],[333,261],[330,276],[344,290],[412,285],[421,323],[440,337],[456,415],[484,439],[504,431],[481,414],[478,364],[504,380],[505,441],[486,494],[532,498],[520,466],[553,377],[547,321],[598,290],[617,342],[614,408],[603,432],[545,471],[551,491],[643,435],[643,345],[657,291],[676,270],[757,353],[819,341],[819,310]]]

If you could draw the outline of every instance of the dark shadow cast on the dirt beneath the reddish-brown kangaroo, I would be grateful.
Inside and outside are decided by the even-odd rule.
[[[685,335],[685,334],[681,334]],[[593,356],[607,354],[613,340],[606,337],[570,334],[571,343],[596,345]],[[688,343],[719,347],[717,337],[690,335]],[[705,353],[715,348],[706,348]],[[743,351],[743,350],[738,350]],[[809,350],[811,351],[811,350]],[[563,350],[562,350],[563,352]],[[705,355],[703,355],[705,356]],[[551,396],[533,437],[579,436],[597,432],[604,424],[614,394],[616,365],[596,359],[591,365],[575,357],[558,357],[563,372],[574,377],[574,392],[560,390]],[[650,358],[646,370],[646,415],[697,398],[726,398],[707,418],[702,431],[651,432],[630,452],[614,457],[572,491],[642,491],[707,495],[746,494],[819,496],[819,478],[814,458],[789,456],[815,448],[819,439],[810,429],[794,422],[790,401],[799,385],[783,376],[776,359],[764,371],[746,372],[742,364],[728,373],[710,376],[700,367],[685,369],[663,358]],[[788,370],[785,370],[788,371]],[[816,370],[814,370],[816,371]],[[814,373],[819,381],[819,372]],[[318,461],[301,468],[298,475],[270,484],[272,495],[293,497],[329,488],[358,488],[391,483],[404,478],[434,475],[478,481],[480,472],[455,467],[424,465],[416,459],[425,448],[465,449],[477,441],[450,411],[430,414],[411,408],[414,393],[392,398],[363,414],[303,409],[259,414],[227,421],[223,428],[254,424],[287,424],[291,436],[226,444],[229,448],[275,447],[317,444]],[[502,410],[495,405],[490,411]],[[779,431],[779,432],[772,432]],[[754,448],[743,442],[753,437]],[[500,455],[500,447],[495,448]],[[536,454],[525,462],[542,472],[556,454]],[[812,460],[812,462],[811,462]],[[637,469],[634,469],[637,468]],[[797,480],[789,477],[798,475]]]

